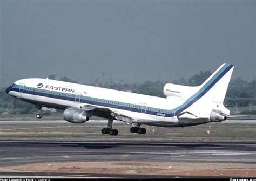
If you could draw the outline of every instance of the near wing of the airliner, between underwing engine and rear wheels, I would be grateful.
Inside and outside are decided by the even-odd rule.
[[[82,109],[86,112],[87,115],[104,117],[107,119],[109,117],[113,117],[114,120],[123,121],[126,124],[132,124],[133,123],[132,120],[134,120],[132,117],[125,115],[123,113],[120,113],[111,108],[99,107],[99,106],[93,106],[93,105],[84,105]]]

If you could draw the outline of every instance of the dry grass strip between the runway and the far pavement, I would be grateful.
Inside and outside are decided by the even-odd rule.
[[[57,122],[57,121],[56,121]],[[192,126],[184,128],[158,128],[142,126],[147,129],[146,134],[130,133],[131,126],[122,122],[114,122],[113,128],[118,129],[118,136],[103,135],[102,128],[106,128],[105,123],[86,122],[83,124],[63,123],[18,123],[0,124],[0,137],[19,138],[255,138],[256,124],[221,124],[208,123],[204,126]]]

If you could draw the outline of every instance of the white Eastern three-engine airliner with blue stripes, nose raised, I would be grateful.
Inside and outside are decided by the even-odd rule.
[[[145,134],[143,125],[186,127],[221,122],[230,115],[223,101],[234,66],[222,64],[200,86],[166,83],[166,98],[116,91],[50,79],[21,79],[6,88],[6,93],[32,103],[41,119],[43,107],[64,110],[64,120],[85,123],[91,116],[107,119],[102,134],[118,135],[113,120],[132,125],[131,133]]]

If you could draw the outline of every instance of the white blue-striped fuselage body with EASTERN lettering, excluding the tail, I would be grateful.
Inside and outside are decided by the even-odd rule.
[[[133,123],[177,127],[177,107],[183,102],[50,79],[22,79],[9,94],[38,106],[65,109],[85,104],[109,107],[133,117]]]

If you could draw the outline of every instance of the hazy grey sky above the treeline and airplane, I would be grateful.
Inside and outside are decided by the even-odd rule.
[[[189,78],[235,65],[256,75],[255,1],[1,1],[1,85]]]

